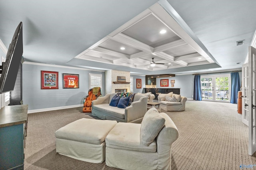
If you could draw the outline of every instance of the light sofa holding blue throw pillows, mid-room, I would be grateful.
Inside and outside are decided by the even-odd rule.
[[[92,115],[100,119],[140,123],[147,111],[147,97],[135,94],[132,104],[122,109],[109,105],[115,95],[116,93],[106,94],[92,101]]]

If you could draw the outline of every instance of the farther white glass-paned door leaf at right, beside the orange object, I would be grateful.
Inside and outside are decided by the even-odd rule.
[[[249,109],[248,109],[248,63],[242,65],[242,122],[249,126]]]

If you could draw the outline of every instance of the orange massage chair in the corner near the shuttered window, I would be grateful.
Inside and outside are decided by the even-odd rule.
[[[101,96],[100,90],[100,87],[94,87],[88,91],[88,95],[84,98],[84,113],[92,112],[92,101],[96,100],[99,96]]]

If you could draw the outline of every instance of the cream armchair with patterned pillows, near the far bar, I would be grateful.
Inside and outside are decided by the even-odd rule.
[[[172,97],[176,96],[177,102],[168,102],[166,101],[166,96]],[[165,111],[185,111],[185,104],[187,98],[184,96],[180,96],[178,94],[173,94],[172,92],[168,94],[159,94],[158,102],[160,103],[160,109]]]

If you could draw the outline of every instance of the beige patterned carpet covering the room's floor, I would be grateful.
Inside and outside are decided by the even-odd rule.
[[[255,155],[248,155],[248,127],[236,104],[188,100],[186,111],[166,113],[179,131],[172,145],[172,170],[238,170],[241,164],[256,164]],[[56,153],[54,132],[83,117],[98,119],[82,113],[82,107],[28,114],[25,170],[115,170],[105,162]]]

